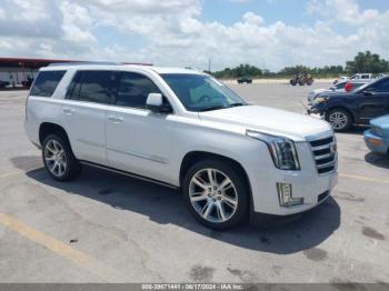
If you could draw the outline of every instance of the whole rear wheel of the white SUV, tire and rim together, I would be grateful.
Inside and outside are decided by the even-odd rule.
[[[81,165],[71,151],[69,142],[59,134],[49,134],[42,143],[42,159],[52,179],[69,181],[74,179]]]

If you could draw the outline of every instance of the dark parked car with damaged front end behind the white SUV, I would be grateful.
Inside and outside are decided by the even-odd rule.
[[[389,113],[389,77],[351,92],[320,93],[308,113],[326,119],[336,131],[347,131],[352,124],[368,124],[371,119]]]

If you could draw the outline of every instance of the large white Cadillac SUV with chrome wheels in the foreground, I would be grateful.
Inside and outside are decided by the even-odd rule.
[[[215,229],[311,209],[338,177],[327,122],[249,106],[192,70],[43,68],[24,127],[53,179],[70,180],[89,164],[181,188],[190,212]]]

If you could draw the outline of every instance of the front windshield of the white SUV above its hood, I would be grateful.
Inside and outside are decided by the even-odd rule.
[[[247,104],[227,86],[206,74],[163,73],[161,77],[188,111],[209,111]]]

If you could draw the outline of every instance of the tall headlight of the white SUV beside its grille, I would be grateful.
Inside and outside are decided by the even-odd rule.
[[[246,131],[246,134],[253,139],[266,142],[275,165],[278,169],[300,170],[300,163],[293,141],[282,137],[275,137],[250,130]]]

